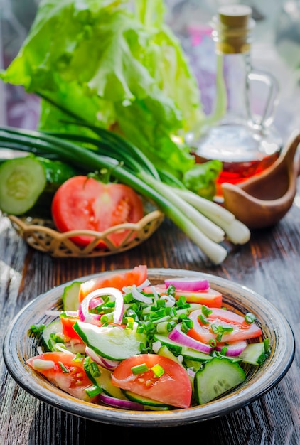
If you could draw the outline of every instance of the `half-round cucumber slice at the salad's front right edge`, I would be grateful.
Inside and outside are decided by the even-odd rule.
[[[245,371],[236,362],[214,357],[195,374],[195,397],[208,403],[246,380]]]

